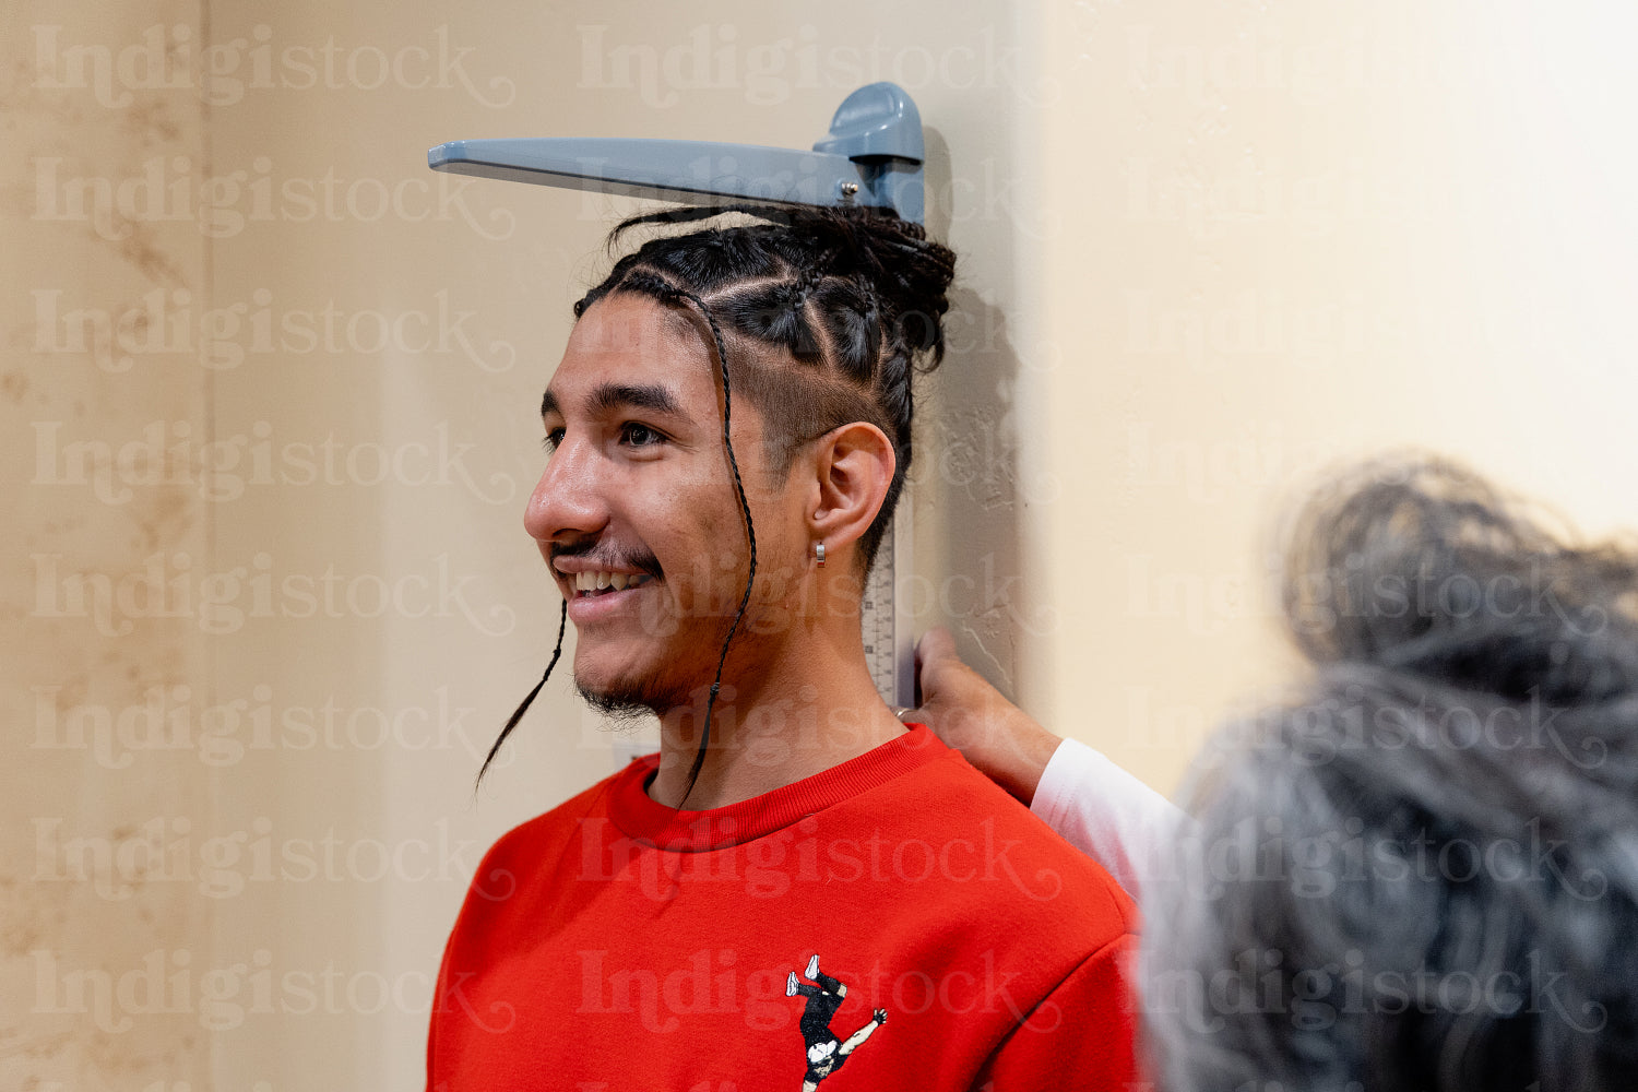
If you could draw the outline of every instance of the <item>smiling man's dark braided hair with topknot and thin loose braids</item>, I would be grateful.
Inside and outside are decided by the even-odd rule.
[[[577,319],[614,293],[639,293],[698,313],[711,331],[709,349],[722,378],[722,445],[745,522],[750,566],[717,657],[688,791],[704,765],[722,665],[757,575],[757,532],[729,437],[732,391],[739,388],[762,414],[768,465],[776,476],[790,470],[804,444],[842,424],[867,421],[883,431],[893,444],[894,472],[881,509],[860,537],[858,560],[868,570],[893,524],[911,465],[912,375],[943,360],[943,314],[955,275],[955,254],[927,239],[921,224],[845,206],[665,210],[616,226],[609,249],[637,228],[663,229],[731,214],[740,223],[688,234],[662,231],[621,257],[575,303]],[[567,604],[563,609],[567,614]],[[545,675],[506,720],[483,760],[480,781],[550,678],[562,642],[560,619]]]

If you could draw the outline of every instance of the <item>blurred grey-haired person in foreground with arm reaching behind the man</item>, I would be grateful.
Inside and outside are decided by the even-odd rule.
[[[1186,817],[922,650],[922,719],[1142,886],[1161,1087],[1638,1087],[1638,550],[1376,462],[1296,521],[1283,606],[1310,678]]]

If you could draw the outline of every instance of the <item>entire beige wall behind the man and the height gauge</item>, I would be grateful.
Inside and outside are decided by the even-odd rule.
[[[631,206],[434,175],[434,142],[808,144],[855,85],[909,87],[929,224],[963,257],[919,426],[916,620],[1160,787],[1281,676],[1263,532],[1325,462],[1433,445],[1635,522],[1609,485],[1638,393],[1630,36],[1607,11],[1430,7],[8,15],[0,411],[26,548],[3,588],[21,1049],[0,1084],[414,1087],[478,853],[616,761],[560,679],[472,794],[555,627],[519,526],[532,406]],[[151,28],[180,87],[143,67]],[[102,56],[106,88],[75,80]],[[144,170],[162,196],[133,182],[105,224],[44,205]],[[170,341],[146,341],[157,290]],[[131,350],[75,345],[85,308],[128,313]],[[157,485],[118,455],[144,434],[175,449]],[[102,478],[66,470],[82,440],[108,444]],[[156,555],[164,611],[139,594]],[[103,624],[41,599],[70,573],[126,599]],[[138,733],[156,686],[188,688],[164,740]],[[190,997],[143,994],[152,953]]]

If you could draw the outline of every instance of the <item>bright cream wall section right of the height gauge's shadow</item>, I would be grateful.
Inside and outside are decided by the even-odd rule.
[[[1025,512],[1052,724],[1170,787],[1279,681],[1269,529],[1417,445],[1638,524],[1618,5],[1053,5]],[[1038,462],[1037,462],[1038,460]]]

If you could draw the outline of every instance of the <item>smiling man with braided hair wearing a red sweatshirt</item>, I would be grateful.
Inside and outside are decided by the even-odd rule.
[[[616,229],[662,234],[575,306],[524,526],[577,689],[662,747],[485,856],[428,1084],[1124,1089],[1130,899],[865,661],[953,255],[867,210],[735,213]]]

